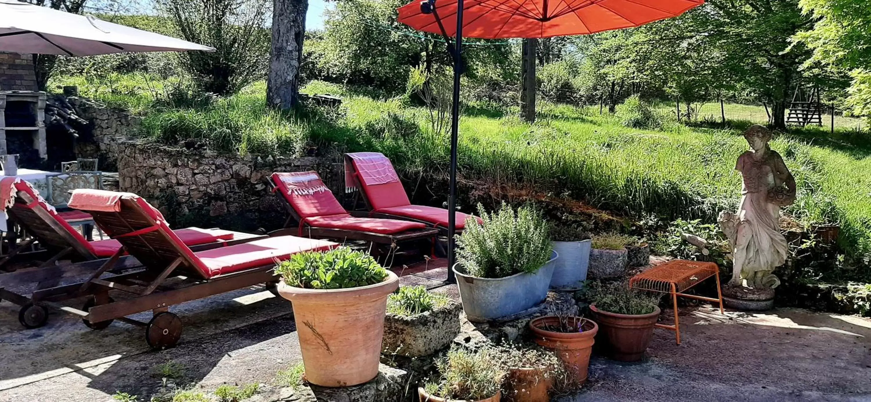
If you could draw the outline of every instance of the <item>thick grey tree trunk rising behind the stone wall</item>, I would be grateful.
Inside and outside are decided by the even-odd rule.
[[[267,78],[269,106],[290,109],[299,99],[307,10],[308,0],[273,0],[272,57]]]

